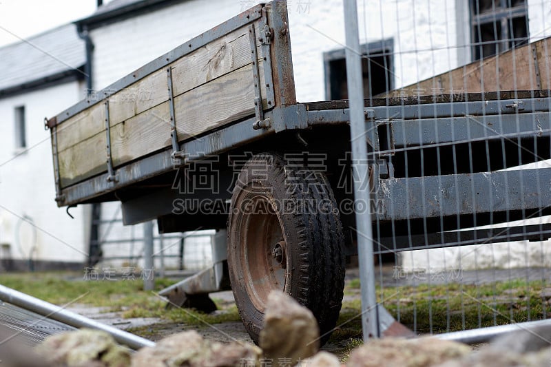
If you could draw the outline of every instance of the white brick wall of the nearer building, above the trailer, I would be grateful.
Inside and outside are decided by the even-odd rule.
[[[397,87],[458,65],[455,1],[422,0],[415,1],[415,6],[403,0],[358,2],[362,43],[394,39]],[[107,87],[257,1],[213,3],[185,1],[92,30],[94,87]],[[342,0],[288,3],[298,100],[320,101],[324,99],[323,52],[344,47]]]

